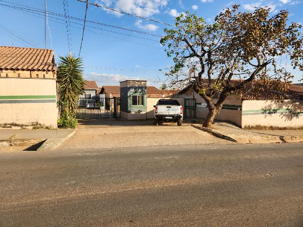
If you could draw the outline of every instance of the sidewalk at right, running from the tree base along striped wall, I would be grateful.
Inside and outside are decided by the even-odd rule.
[[[242,130],[232,123],[219,121],[212,128],[238,143],[303,142],[303,130]]]

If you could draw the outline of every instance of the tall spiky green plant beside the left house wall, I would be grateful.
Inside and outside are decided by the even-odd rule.
[[[82,59],[75,56],[60,56],[58,83],[61,111],[75,113],[79,95],[83,94]]]

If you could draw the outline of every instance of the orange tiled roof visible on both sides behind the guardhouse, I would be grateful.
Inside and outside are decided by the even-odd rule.
[[[168,97],[176,93],[177,91],[178,90],[169,90],[169,89],[160,90],[155,86],[146,86],[147,98]],[[102,87],[99,93],[112,94],[112,96],[120,97],[120,86],[105,85]]]

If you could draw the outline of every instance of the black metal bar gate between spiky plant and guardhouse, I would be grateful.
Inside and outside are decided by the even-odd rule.
[[[120,118],[120,98],[79,98],[78,119]]]

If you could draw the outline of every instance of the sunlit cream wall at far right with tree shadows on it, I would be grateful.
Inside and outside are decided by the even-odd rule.
[[[242,128],[303,127],[303,100],[244,100]]]

